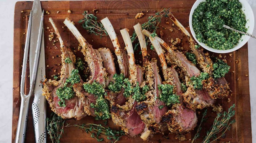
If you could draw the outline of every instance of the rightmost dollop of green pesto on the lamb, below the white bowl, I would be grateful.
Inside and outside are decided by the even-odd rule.
[[[218,59],[216,63],[213,64],[213,77],[221,78],[224,77],[226,73],[228,73],[230,66],[227,65],[223,60]]]

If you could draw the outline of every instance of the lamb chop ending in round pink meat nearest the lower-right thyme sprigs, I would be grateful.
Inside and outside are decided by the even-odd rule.
[[[160,59],[165,59],[160,43],[156,38],[149,37],[152,45]],[[176,134],[187,133],[193,130],[197,124],[196,112],[183,106],[181,82],[178,73],[173,67],[168,68],[165,60],[161,60],[161,66],[164,77],[164,84],[169,84],[176,89],[174,91],[179,96],[180,103],[173,104],[172,109],[165,113],[162,121],[167,124],[168,129]]]

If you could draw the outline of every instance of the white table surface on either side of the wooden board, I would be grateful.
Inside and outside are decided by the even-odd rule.
[[[247,0],[256,16],[256,0]],[[17,0],[0,0],[0,143],[11,142],[13,17]],[[256,23],[255,23],[256,24]],[[256,35],[256,26],[253,35]],[[252,140],[256,141],[256,40],[248,42]]]

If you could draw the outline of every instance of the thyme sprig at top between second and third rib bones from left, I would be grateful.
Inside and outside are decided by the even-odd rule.
[[[84,18],[79,20],[78,23],[83,23],[82,27],[86,29],[88,33],[93,33],[94,35],[102,36],[108,35],[104,26],[97,21],[97,17],[93,14],[89,14],[87,11],[83,13]]]

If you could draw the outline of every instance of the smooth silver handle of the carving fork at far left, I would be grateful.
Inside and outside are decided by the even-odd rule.
[[[26,136],[26,126],[29,111],[29,101],[31,96],[21,95],[20,114],[17,125],[15,143],[24,143]]]

